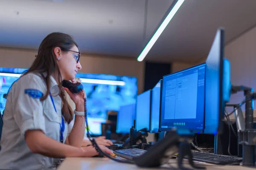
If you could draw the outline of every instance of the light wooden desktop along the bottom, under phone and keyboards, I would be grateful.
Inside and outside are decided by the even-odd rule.
[[[187,160],[183,160],[185,167],[190,167]],[[196,164],[199,164],[196,162]],[[200,163],[207,167],[207,170],[253,170],[255,168],[242,167],[239,165],[219,166],[213,164]],[[166,165],[168,166],[168,165]],[[163,168],[150,168],[149,170],[166,170]],[[170,159],[169,169],[177,169],[177,159]],[[191,168],[191,167],[190,167]],[[145,170],[133,164],[124,164],[112,161],[108,158],[66,158],[57,168],[57,170]]]

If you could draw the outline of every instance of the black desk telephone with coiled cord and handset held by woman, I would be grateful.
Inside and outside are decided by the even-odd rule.
[[[62,81],[62,86],[65,88],[68,88],[72,93],[79,93],[81,90],[84,89],[83,85],[80,82],[73,83],[67,80]],[[93,147],[99,153],[99,156],[101,157],[106,156],[109,159],[112,159],[114,161],[136,164],[139,167],[159,167],[161,164],[164,163],[163,162],[164,158],[166,158],[166,156],[168,157],[168,155],[166,155],[167,154],[166,150],[175,146],[179,148],[180,156],[178,158],[178,165],[180,169],[183,169],[182,160],[184,156],[189,157],[189,163],[192,165],[192,167],[204,168],[204,167],[196,166],[193,163],[192,153],[190,152],[189,143],[184,142],[184,138],[180,138],[180,136],[175,131],[171,131],[167,133],[165,138],[161,139],[160,141],[155,143],[153,146],[151,146],[147,150],[147,152],[145,152],[145,154],[143,154],[142,156],[135,157],[133,160],[123,160],[119,158],[114,158],[109,154],[103,152],[99,148],[95,139],[92,139],[90,136],[89,129],[88,129],[88,122],[87,122],[86,99],[84,99],[84,117],[85,117],[85,124],[87,128],[87,137],[90,140],[90,142],[93,144]]]

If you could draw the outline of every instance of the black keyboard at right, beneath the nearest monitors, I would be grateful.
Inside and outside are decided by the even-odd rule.
[[[212,153],[204,153],[204,152],[194,152],[192,153],[194,161],[201,161],[210,164],[240,164],[242,158],[232,157],[232,156],[224,156],[224,155],[215,155]],[[186,157],[185,157],[186,158]]]

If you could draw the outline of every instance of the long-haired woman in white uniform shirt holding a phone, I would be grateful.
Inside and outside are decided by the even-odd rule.
[[[61,86],[62,80],[73,80],[81,69],[77,46],[67,34],[49,34],[32,66],[12,85],[3,119],[0,169],[53,169],[60,158],[97,155],[92,146],[81,148],[84,91],[72,94]],[[73,111],[64,90],[76,105],[69,135],[67,125],[73,120]],[[67,135],[69,144],[64,144]],[[111,154],[108,148],[100,147]]]

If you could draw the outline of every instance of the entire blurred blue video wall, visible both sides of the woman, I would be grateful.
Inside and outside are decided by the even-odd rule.
[[[8,92],[12,83],[26,69],[23,68],[0,68],[0,111],[3,113],[6,99],[3,94]],[[12,73],[12,74],[6,74]],[[16,77],[15,77],[16,76]],[[137,99],[137,78],[126,76],[115,76],[106,74],[83,74],[78,73],[76,77],[81,79],[84,91],[87,94],[87,116],[90,132],[93,135],[101,135],[101,123],[107,119],[107,111],[119,111],[121,105],[135,104]],[[98,82],[88,82],[93,79]],[[112,80],[122,82],[114,85],[112,82],[100,80]]]

